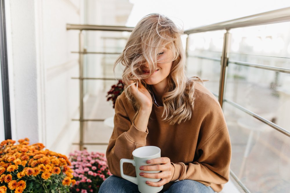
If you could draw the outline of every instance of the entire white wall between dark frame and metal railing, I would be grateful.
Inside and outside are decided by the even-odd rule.
[[[79,123],[78,32],[81,0],[6,1],[12,139],[28,137],[67,154]]]

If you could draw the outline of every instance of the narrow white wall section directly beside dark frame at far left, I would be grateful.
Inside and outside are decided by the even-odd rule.
[[[34,2],[6,1],[12,139],[39,140]],[[13,108],[14,107],[14,108]]]

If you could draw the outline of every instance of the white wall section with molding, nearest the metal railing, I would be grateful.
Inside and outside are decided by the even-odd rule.
[[[43,53],[46,69],[46,146],[67,153],[79,122],[78,31],[67,31],[67,23],[81,22],[83,1],[43,1]]]

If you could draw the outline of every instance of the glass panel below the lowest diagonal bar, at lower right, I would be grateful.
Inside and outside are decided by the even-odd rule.
[[[289,137],[227,102],[224,115],[232,144],[231,170],[250,192],[288,192]]]

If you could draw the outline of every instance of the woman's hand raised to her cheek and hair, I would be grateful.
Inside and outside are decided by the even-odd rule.
[[[134,83],[131,80],[131,83]],[[140,104],[140,109],[144,110],[152,110],[152,97],[149,93],[149,91],[141,84],[140,82],[138,83],[138,88],[137,88],[137,82],[133,84],[131,87],[128,89],[131,89],[132,95],[135,97],[137,102]]]

